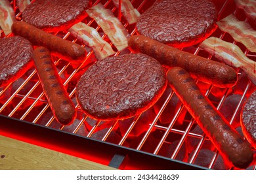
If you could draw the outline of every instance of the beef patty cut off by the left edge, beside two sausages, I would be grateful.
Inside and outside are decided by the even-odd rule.
[[[0,87],[22,76],[33,65],[33,47],[20,36],[0,39]]]

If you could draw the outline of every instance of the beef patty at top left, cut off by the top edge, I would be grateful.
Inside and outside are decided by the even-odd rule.
[[[24,22],[45,31],[68,29],[87,16],[91,0],[37,0],[22,13]]]

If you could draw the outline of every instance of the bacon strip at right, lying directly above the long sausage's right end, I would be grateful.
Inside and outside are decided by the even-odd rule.
[[[247,58],[238,46],[217,37],[210,37],[202,42],[200,48],[227,65],[243,69],[256,86],[256,62]]]

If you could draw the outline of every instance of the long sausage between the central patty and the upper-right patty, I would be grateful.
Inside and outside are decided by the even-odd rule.
[[[134,52],[148,54],[166,67],[182,67],[199,80],[221,88],[232,87],[238,81],[236,71],[228,65],[183,52],[142,35],[131,37],[128,45]]]

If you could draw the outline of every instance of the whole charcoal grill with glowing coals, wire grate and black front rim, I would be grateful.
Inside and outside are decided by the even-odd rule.
[[[131,2],[140,13],[154,3],[148,0]],[[129,33],[136,34],[135,25],[128,25],[125,22],[125,18],[111,0],[93,1],[93,5],[97,3],[102,3],[104,7],[111,9]],[[15,2],[11,1],[11,4],[16,12],[16,18],[22,20],[22,14],[18,12]],[[219,9],[220,19],[234,13],[240,20],[249,22],[255,28],[255,24],[250,22],[244,11],[236,8],[233,0],[215,0],[215,4]],[[97,29],[102,38],[110,42],[102,29],[89,16],[83,22]],[[85,46],[68,31],[56,32],[54,35]],[[255,53],[249,52],[227,33],[217,29],[213,36],[237,44],[247,57],[256,61]],[[233,169],[221,163],[219,152],[198,129],[194,119],[177,101],[175,93],[170,88],[167,88],[156,105],[128,120],[100,122],[85,115],[75,100],[75,84],[89,65],[96,61],[93,51],[87,46],[85,48],[88,54],[81,64],[53,58],[64,86],[77,108],[77,119],[74,124],[64,126],[56,122],[37,73],[35,69],[30,69],[9,86],[0,88],[1,135],[119,169]],[[198,44],[182,50],[215,59],[201,50]],[[129,52],[126,49],[117,52],[115,56]],[[229,110],[228,116],[230,124],[239,129],[240,124],[237,119],[240,116],[240,109],[254,86],[242,70],[237,71],[239,80],[233,88],[221,89],[202,81],[196,82],[217,109],[224,112],[226,110],[223,108],[229,97],[239,96],[236,105]],[[250,169],[256,169],[256,166],[253,165]]]

